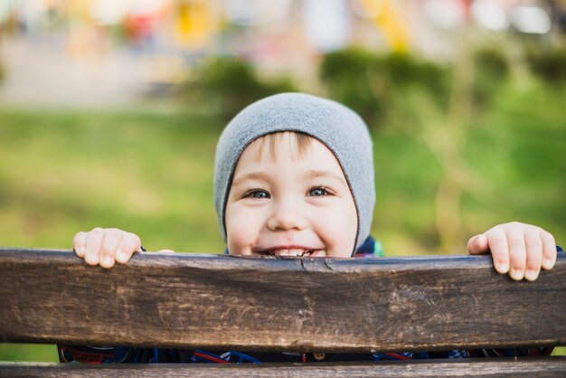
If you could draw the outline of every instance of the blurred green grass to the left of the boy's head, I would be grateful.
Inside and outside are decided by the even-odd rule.
[[[71,248],[95,226],[149,250],[222,251],[212,206],[218,126],[185,113],[3,109],[3,245]]]

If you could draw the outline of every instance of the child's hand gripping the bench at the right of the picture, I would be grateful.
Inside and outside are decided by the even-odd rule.
[[[491,250],[495,270],[515,280],[535,280],[542,269],[556,262],[556,244],[551,233],[519,222],[499,224],[470,238],[467,250],[472,254]]]

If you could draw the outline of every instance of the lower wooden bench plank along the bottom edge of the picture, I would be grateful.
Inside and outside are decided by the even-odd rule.
[[[10,364],[10,377],[563,377],[566,357],[310,364]]]

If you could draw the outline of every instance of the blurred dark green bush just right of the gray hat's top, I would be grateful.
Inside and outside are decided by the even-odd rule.
[[[393,97],[423,90],[439,105],[446,103],[450,71],[407,53],[374,53],[347,49],[325,55],[320,78],[328,96],[356,110],[371,128],[378,128]]]

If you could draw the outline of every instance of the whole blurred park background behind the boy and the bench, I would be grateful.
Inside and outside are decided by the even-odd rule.
[[[515,220],[563,245],[565,33],[564,0],[0,0],[0,245],[100,226],[222,252],[216,139],[294,90],[371,128],[386,255],[463,254]]]

